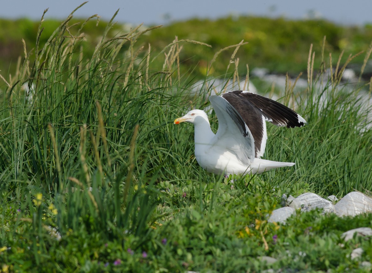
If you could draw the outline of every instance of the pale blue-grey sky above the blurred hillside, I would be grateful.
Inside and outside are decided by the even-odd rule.
[[[1,1],[1,18],[65,19],[83,1],[74,0],[13,0]],[[109,20],[119,9],[115,20],[123,23],[164,24],[192,17],[211,18],[227,15],[284,16],[302,19],[322,17],[343,25],[372,24],[372,0],[90,0],[76,13],[84,19],[98,14]]]

